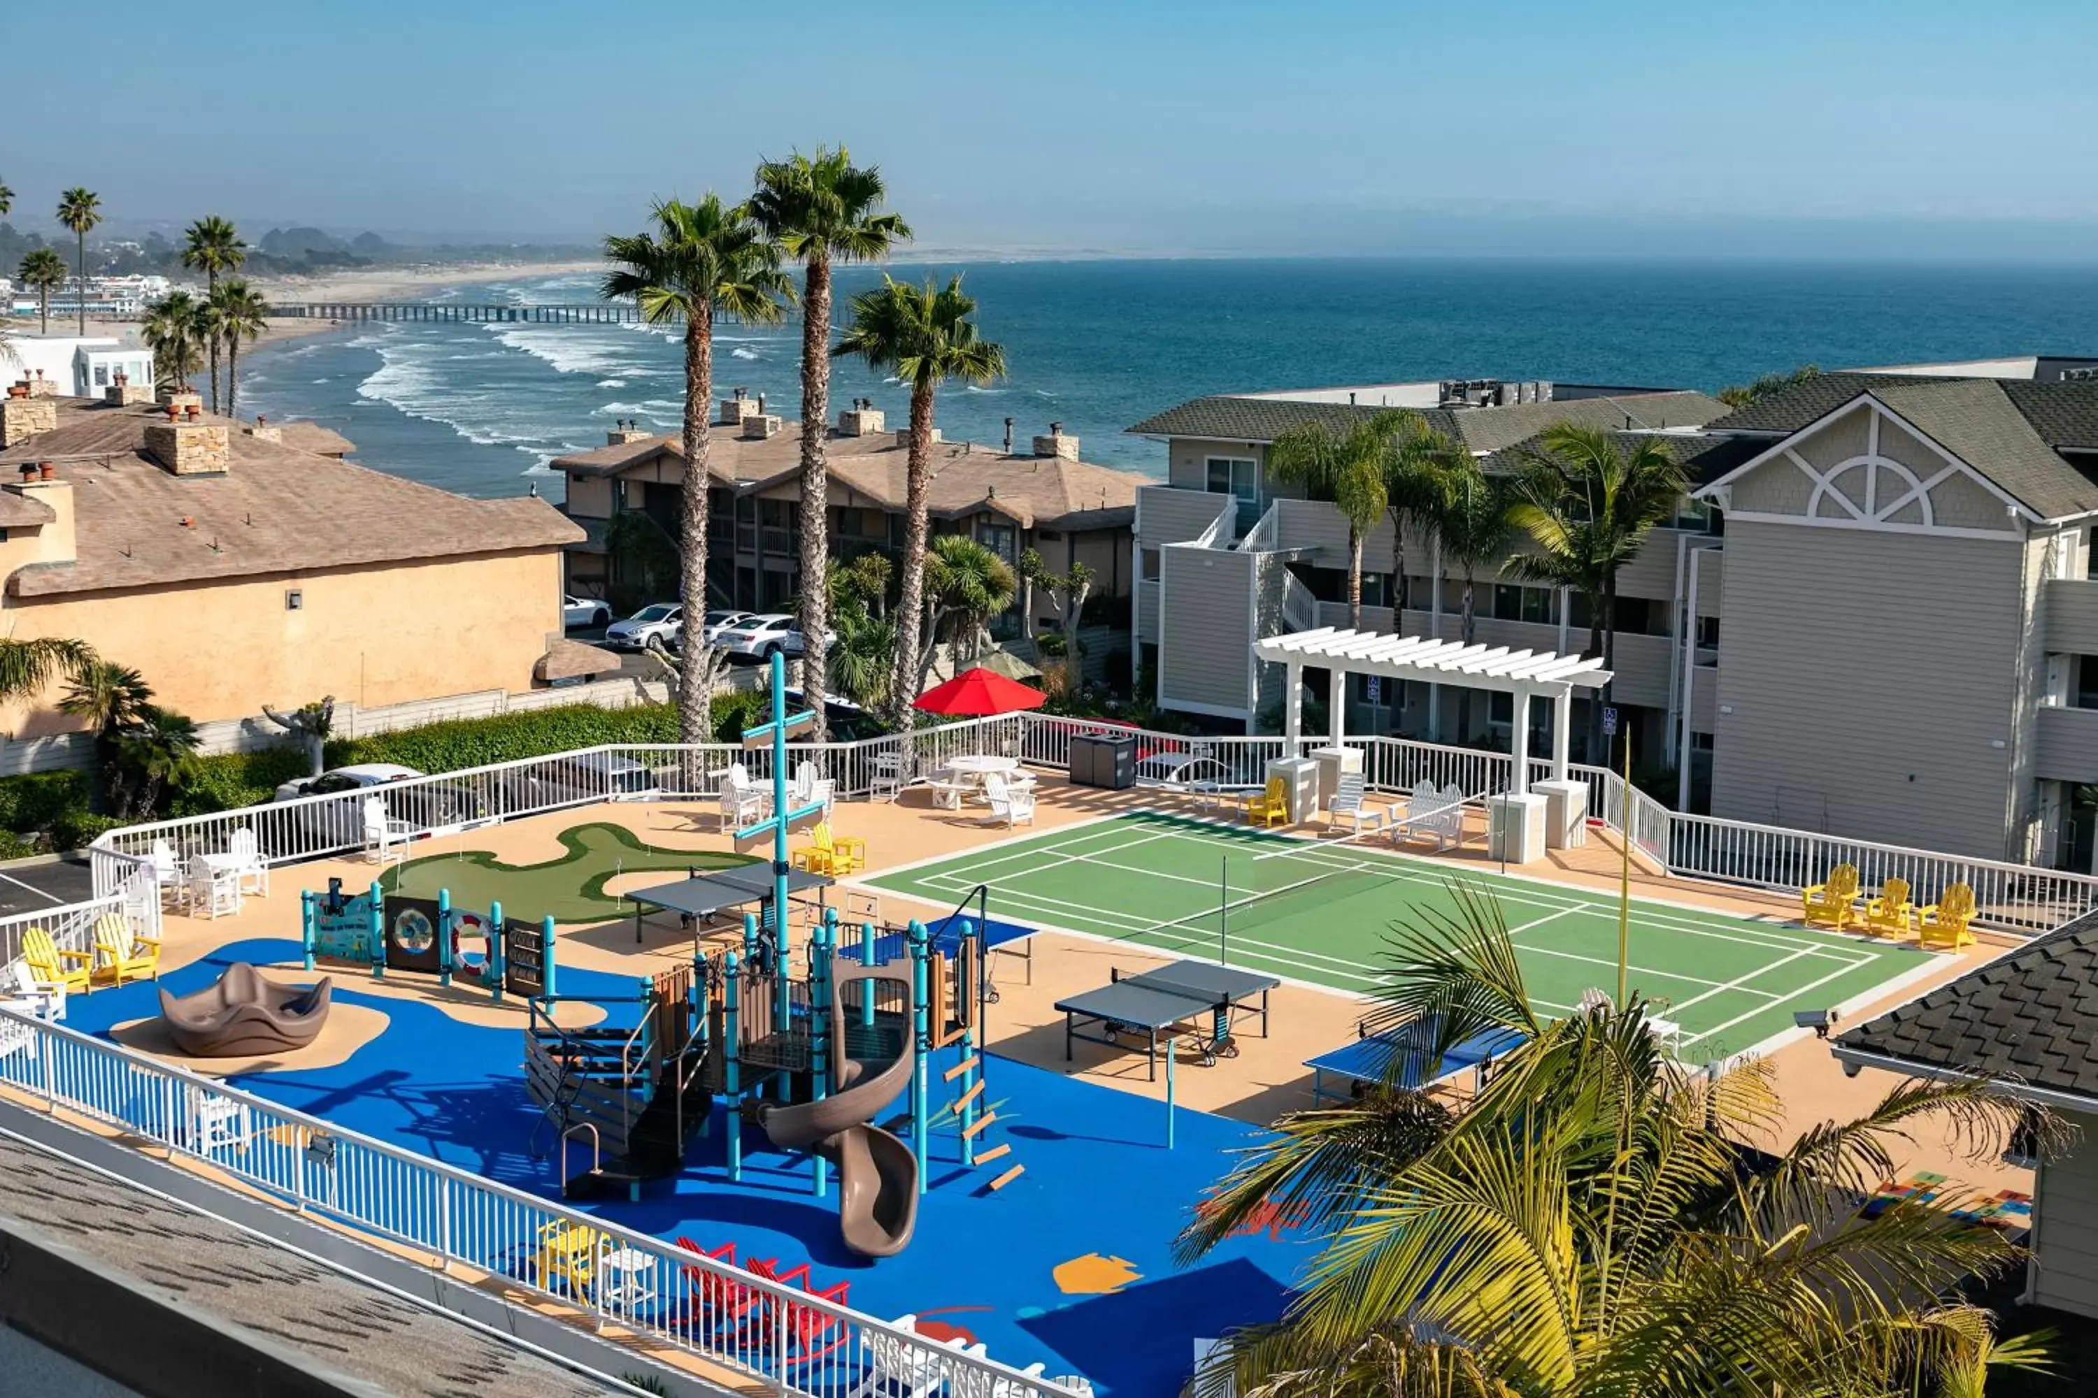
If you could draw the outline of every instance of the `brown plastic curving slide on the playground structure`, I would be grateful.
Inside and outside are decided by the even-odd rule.
[[[896,966],[894,970],[890,966]],[[845,1042],[845,998],[852,981],[911,981],[908,962],[837,966],[831,993],[831,1042]],[[768,1107],[766,1136],[783,1151],[814,1151],[837,1170],[837,1224],[845,1247],[862,1258],[892,1258],[911,1245],[917,1226],[917,1157],[892,1132],[871,1126],[911,1086],[908,1048],[869,1073],[839,1058],[831,1096],[801,1107]]]

